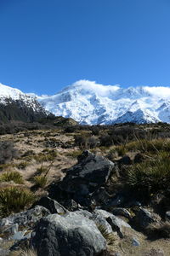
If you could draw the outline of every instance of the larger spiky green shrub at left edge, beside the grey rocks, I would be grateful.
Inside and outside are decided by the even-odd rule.
[[[20,212],[35,200],[36,196],[28,189],[18,187],[0,189],[0,216],[4,218],[13,212]]]

